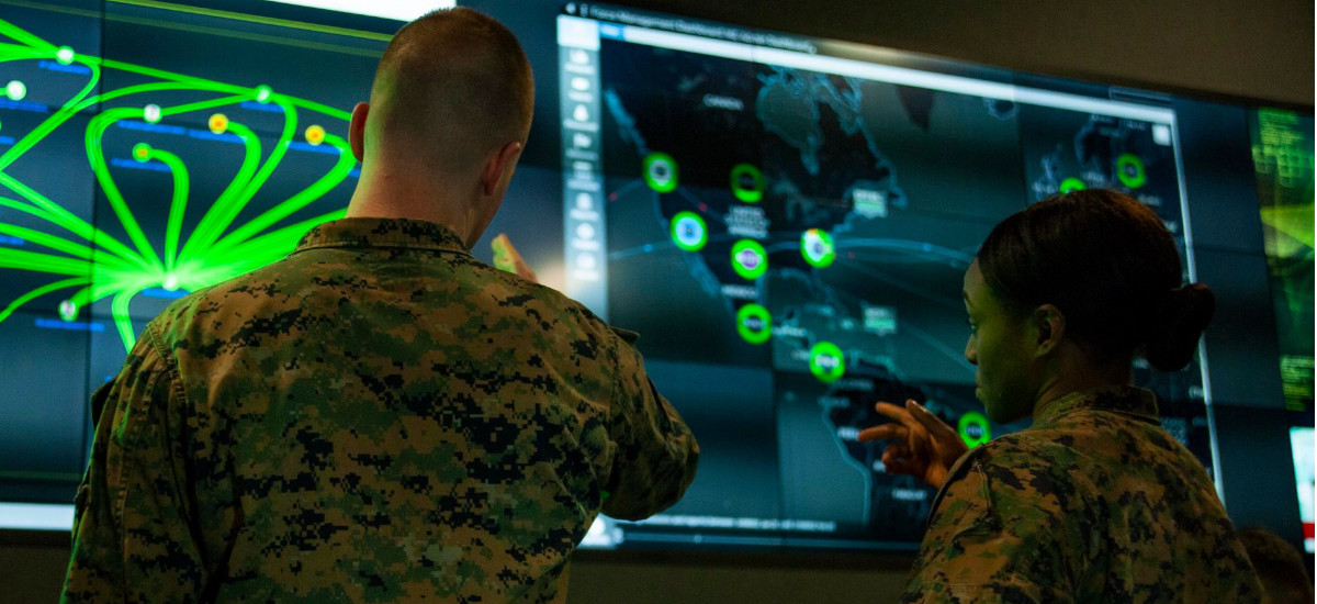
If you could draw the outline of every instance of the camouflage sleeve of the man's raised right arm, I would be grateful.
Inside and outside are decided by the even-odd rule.
[[[641,520],[676,504],[695,479],[699,444],[676,409],[645,375],[636,335],[615,330],[618,386],[614,389],[612,433],[618,443],[603,513]]]

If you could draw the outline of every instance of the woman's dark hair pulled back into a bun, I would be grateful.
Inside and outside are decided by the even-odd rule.
[[[992,293],[1015,313],[1054,305],[1097,363],[1142,349],[1152,367],[1193,359],[1216,297],[1181,286],[1180,255],[1162,219],[1115,191],[1056,195],[997,224],[979,248]]]

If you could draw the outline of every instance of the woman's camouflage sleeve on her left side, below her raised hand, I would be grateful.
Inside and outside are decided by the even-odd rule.
[[[1026,456],[1004,462],[980,447],[954,468],[901,601],[1073,601],[1067,564],[1087,550],[1067,497]]]

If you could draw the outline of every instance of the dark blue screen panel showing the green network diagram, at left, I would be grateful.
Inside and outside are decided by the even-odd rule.
[[[389,34],[169,3],[0,4],[0,501],[67,504],[90,393],[146,322],[341,215],[348,111]]]

